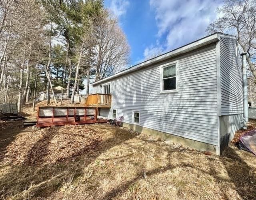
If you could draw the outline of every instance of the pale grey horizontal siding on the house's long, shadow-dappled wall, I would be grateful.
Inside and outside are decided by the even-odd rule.
[[[160,94],[160,65],[179,60],[178,92]],[[94,85],[94,92],[100,84]],[[112,108],[132,124],[218,145],[216,45],[111,80]],[[101,108],[111,118],[112,108]]]

